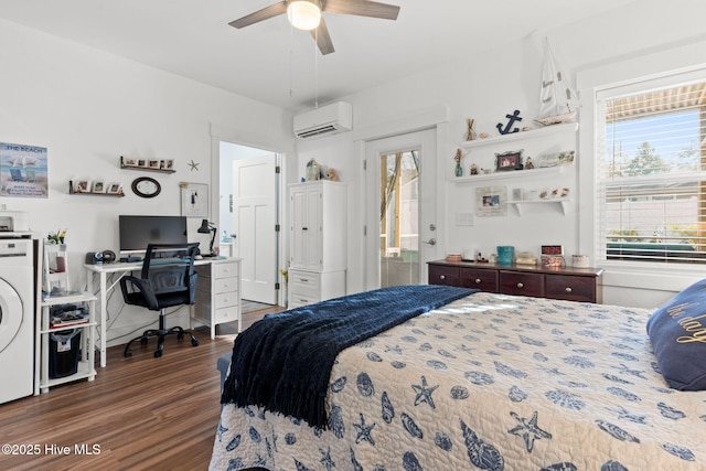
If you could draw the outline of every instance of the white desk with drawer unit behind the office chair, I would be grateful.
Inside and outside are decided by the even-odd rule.
[[[86,282],[88,292],[94,289],[94,275],[98,274],[98,329],[100,332],[100,366],[106,366],[107,319],[108,319],[108,292],[115,289],[120,278],[130,271],[139,271],[141,261],[98,265],[84,265],[86,268]],[[194,260],[196,279],[196,304],[191,307],[190,319],[196,319],[211,327],[211,339],[215,336],[215,327],[218,323],[238,321],[238,332],[242,329],[240,315],[240,259],[239,258],[204,258]],[[118,278],[108,286],[108,275],[118,274]],[[206,282],[201,278],[207,279]],[[223,296],[227,292],[227,296]],[[224,303],[227,303],[225,306]],[[196,307],[196,308],[195,308]],[[228,308],[227,311],[222,309]],[[226,314],[224,314],[226,313]]]

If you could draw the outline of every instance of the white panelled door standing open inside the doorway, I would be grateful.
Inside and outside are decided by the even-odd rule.
[[[234,255],[243,259],[242,298],[277,303],[275,156],[233,162]]]

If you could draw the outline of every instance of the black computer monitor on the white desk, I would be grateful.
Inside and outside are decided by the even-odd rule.
[[[184,216],[119,216],[120,254],[145,253],[148,244],[189,242]]]

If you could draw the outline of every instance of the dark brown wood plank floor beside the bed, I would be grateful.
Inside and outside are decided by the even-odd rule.
[[[281,310],[246,313],[244,329]],[[94,382],[0,405],[0,443],[22,452],[3,448],[0,470],[207,469],[220,414],[216,360],[232,350],[236,332],[218,325],[211,340],[199,329],[196,347],[170,335],[161,358],[153,340],[137,343],[129,358],[110,347]]]

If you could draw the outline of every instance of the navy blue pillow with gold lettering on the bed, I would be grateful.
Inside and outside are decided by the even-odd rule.
[[[706,279],[676,295],[648,320],[664,379],[674,389],[706,389]]]

